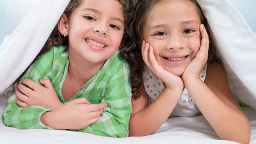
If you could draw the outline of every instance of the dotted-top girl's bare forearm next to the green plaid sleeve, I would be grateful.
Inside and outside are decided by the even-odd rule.
[[[153,134],[169,117],[182,95],[182,91],[164,89],[148,107],[130,118],[129,136]]]

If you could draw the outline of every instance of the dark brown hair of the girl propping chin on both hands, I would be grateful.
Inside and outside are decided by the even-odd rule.
[[[160,1],[162,1],[162,0],[139,0],[137,2],[136,6],[135,6],[134,28],[135,28],[135,36],[138,41],[143,40],[143,38],[142,38],[143,27],[145,26],[146,19],[148,17],[148,13],[155,6],[155,4],[157,4]],[[202,22],[202,24],[204,24],[204,26],[207,30],[207,33],[209,34],[209,52],[208,52],[208,61],[207,62],[208,62],[208,64],[213,63],[213,62],[219,62],[219,59],[216,56],[216,43],[214,41],[214,35],[210,29],[208,20],[202,13],[202,9],[199,6],[199,4],[196,2],[196,0],[189,0],[189,1],[191,1],[197,7],[197,11],[200,16],[201,22]],[[136,51],[141,52],[139,45],[136,46]],[[142,57],[137,57],[137,61],[143,61]],[[134,73],[131,73],[131,75],[134,77],[142,76],[142,71],[144,70],[144,68],[145,68],[145,63],[143,62],[140,67],[135,68],[136,71],[131,70],[131,72],[134,72]],[[134,67],[131,67],[131,69],[134,69]],[[138,81],[136,81],[135,85],[137,87],[134,87],[134,88],[138,89],[138,86],[141,85],[141,79],[138,79]],[[140,98],[140,94],[134,95],[133,98],[135,98],[135,99]]]

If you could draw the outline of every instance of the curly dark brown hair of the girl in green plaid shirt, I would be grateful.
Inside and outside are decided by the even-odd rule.
[[[68,3],[65,11],[63,12],[66,14],[67,19],[69,19],[72,12],[80,6],[81,2],[84,0],[70,0]],[[128,59],[129,57],[134,57],[134,55],[131,52],[128,52],[128,50],[135,48],[135,37],[133,33],[133,16],[134,16],[134,5],[131,0],[117,0],[122,5],[122,12],[124,16],[124,34],[121,40],[121,45],[119,46],[119,49],[121,50],[121,56],[125,59]],[[38,53],[35,59],[40,57],[43,53],[47,52],[51,46],[59,46],[59,45],[68,45],[68,39],[67,37],[64,37],[61,35],[61,33],[58,30],[58,26],[56,25],[50,34],[49,38],[47,39],[45,45],[42,47],[41,51]],[[35,61],[34,59],[34,61]],[[135,59],[135,58],[132,58]],[[33,64],[34,61],[31,63]],[[131,66],[133,60],[131,60]],[[30,64],[30,65],[31,65]],[[20,75],[18,79],[15,80],[13,84],[16,82],[19,82],[22,75],[27,71],[27,69]],[[13,85],[14,86],[14,85]]]

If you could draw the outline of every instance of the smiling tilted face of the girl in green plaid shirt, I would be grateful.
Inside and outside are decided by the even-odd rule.
[[[117,0],[83,0],[70,15],[67,31],[69,57],[102,64],[120,46],[122,6]]]

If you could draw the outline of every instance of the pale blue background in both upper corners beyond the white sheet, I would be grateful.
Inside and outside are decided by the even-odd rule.
[[[236,6],[249,26],[256,32],[256,0],[229,1]],[[0,0],[0,43],[5,35],[12,33],[38,2],[39,0]]]

